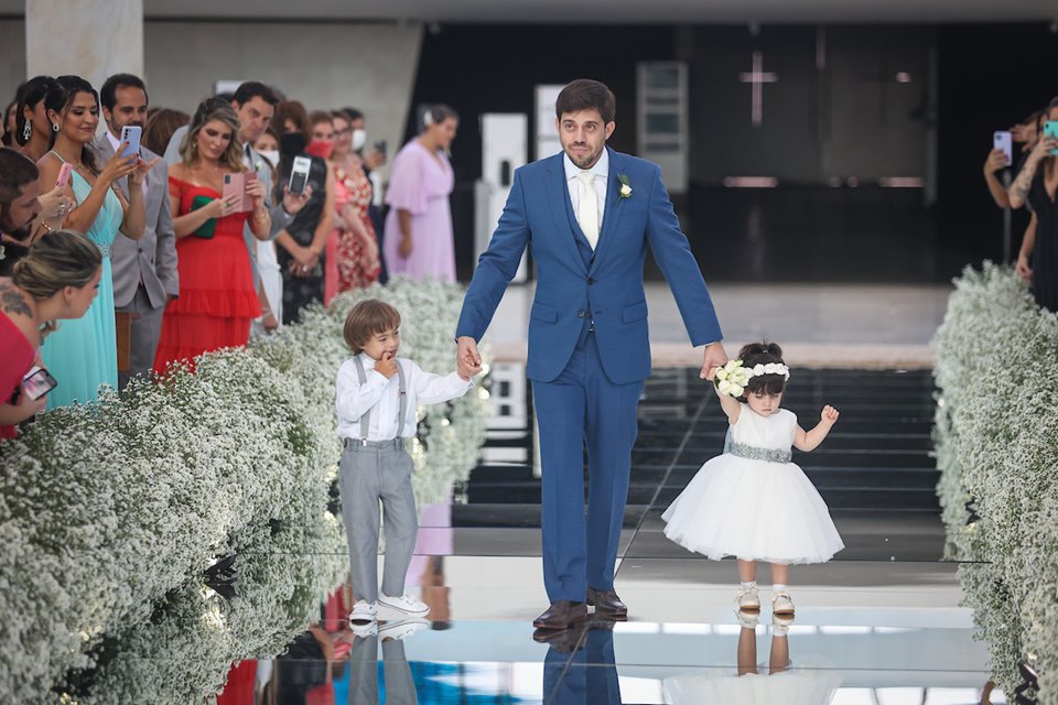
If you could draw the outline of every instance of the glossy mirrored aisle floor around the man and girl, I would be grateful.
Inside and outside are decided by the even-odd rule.
[[[794,371],[784,405],[802,425],[823,403],[842,412],[820,449],[794,459],[846,547],[830,563],[792,568],[797,616],[787,623],[773,617],[766,567],[764,608],[739,615],[734,562],[689,553],[661,533],[661,512],[721,452],[726,422],[697,370],[657,370],[640,404],[615,581],[629,619],[552,634],[531,626],[547,599],[523,370],[499,366],[492,391],[481,465],[453,503],[421,511],[408,582],[429,618],[402,621],[384,608],[377,631],[350,629],[339,593],[287,654],[247,662],[222,702],[1006,702],[983,693],[985,646],[960,607],[957,565],[942,560],[928,372]]]

